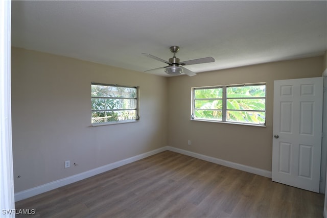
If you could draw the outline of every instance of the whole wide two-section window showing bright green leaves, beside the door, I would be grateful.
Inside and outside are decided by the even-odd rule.
[[[192,119],[266,124],[266,84],[192,89]]]

